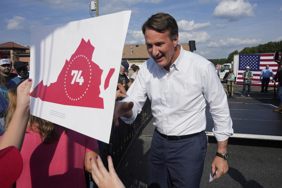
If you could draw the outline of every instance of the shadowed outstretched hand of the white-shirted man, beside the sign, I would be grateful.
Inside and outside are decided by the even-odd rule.
[[[114,109],[114,124],[115,126],[119,126],[118,118],[121,116],[125,116],[129,118],[132,116],[132,108],[133,102],[117,102]]]

